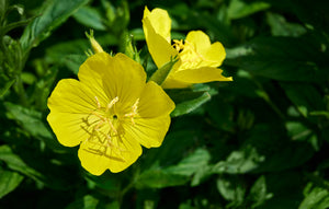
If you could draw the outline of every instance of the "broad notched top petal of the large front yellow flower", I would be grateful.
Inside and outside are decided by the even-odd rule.
[[[135,101],[146,81],[146,73],[139,63],[126,55],[111,57],[106,53],[98,53],[88,58],[80,67],[78,77],[93,91],[103,90],[106,93],[99,100],[109,97],[111,101],[117,96],[122,103]]]

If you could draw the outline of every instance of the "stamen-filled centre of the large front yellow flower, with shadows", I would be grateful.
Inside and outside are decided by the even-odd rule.
[[[127,150],[123,146],[122,137],[124,129],[122,124],[131,123],[132,126],[135,126],[134,118],[138,115],[139,98],[126,111],[121,109],[123,104],[120,103],[117,96],[111,100],[105,106],[100,103],[97,96],[94,96],[94,101],[95,109],[87,118],[82,118],[86,125],[82,126],[82,129],[90,135],[87,139],[90,143],[87,151],[109,158],[109,152],[114,152],[125,161],[123,152],[127,152]]]

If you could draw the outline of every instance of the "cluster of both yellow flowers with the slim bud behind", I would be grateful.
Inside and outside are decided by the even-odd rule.
[[[80,66],[79,80],[59,81],[48,98],[47,120],[58,141],[66,147],[80,146],[81,164],[93,175],[107,169],[121,172],[138,159],[141,146],[161,146],[174,109],[163,89],[231,81],[217,69],[225,59],[223,45],[211,44],[203,32],[192,31],[185,40],[171,40],[167,11],[147,8],[143,28],[158,68],[178,57],[161,86],[146,81],[139,63],[124,54],[110,56],[91,38],[95,54]]]

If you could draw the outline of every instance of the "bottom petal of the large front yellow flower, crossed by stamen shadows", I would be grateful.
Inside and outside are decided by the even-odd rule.
[[[107,169],[117,173],[133,164],[141,154],[141,147],[134,138],[126,135],[112,137],[111,141],[103,140],[104,143],[98,143],[92,140],[84,140],[80,144],[78,156],[81,165],[93,175],[101,175]]]

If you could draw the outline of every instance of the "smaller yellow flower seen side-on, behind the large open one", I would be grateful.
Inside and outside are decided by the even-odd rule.
[[[168,12],[154,9],[151,12],[145,8],[143,30],[148,50],[157,67],[170,61],[170,57],[179,56],[162,86],[166,89],[186,88],[192,83],[211,81],[231,81],[217,69],[225,59],[225,49],[219,42],[211,43],[209,37],[202,31],[192,31],[186,39],[171,43],[171,20]]]

